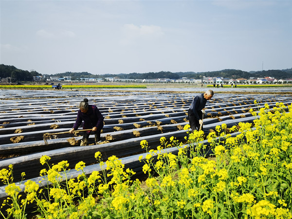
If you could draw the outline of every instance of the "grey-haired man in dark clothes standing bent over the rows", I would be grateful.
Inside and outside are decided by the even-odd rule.
[[[212,90],[208,90],[204,93],[201,93],[193,99],[191,106],[188,110],[188,120],[191,129],[198,130],[200,129],[201,124],[203,125],[203,114],[205,115],[205,106],[207,103],[207,100],[210,100],[214,95],[214,92]],[[202,128],[203,130],[203,128]]]

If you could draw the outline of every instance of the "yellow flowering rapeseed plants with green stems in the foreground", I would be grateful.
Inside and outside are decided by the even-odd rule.
[[[162,137],[161,146],[148,151],[147,142],[141,141],[147,151],[143,160],[139,157],[145,162],[145,182],[131,180],[135,173],[125,170],[117,157],[104,163],[97,152],[95,158],[103,171],[86,177],[85,163],[79,162],[77,179],[66,178],[61,183],[60,173],[66,176],[69,164],[62,161],[49,166],[50,157],[43,156],[40,163],[47,168],[40,175],[52,186],[40,189],[27,181],[21,196],[10,165],[0,171],[8,194],[1,214],[26,218],[26,206],[34,203],[40,219],[291,219],[292,105],[277,103],[269,109],[266,104],[251,113],[258,114],[253,124],[239,123],[229,129],[222,124],[210,132],[207,139],[214,159],[201,153],[206,148],[201,143],[202,131],[189,133],[188,145]],[[230,131],[240,134],[231,137]],[[165,152],[173,146],[178,147],[178,154]]]

